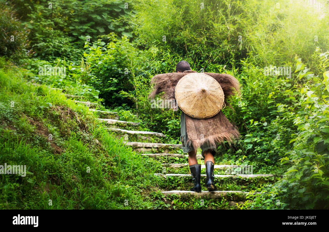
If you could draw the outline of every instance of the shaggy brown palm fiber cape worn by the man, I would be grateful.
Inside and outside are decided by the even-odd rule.
[[[165,73],[155,75],[151,79],[151,84],[154,84],[153,90],[149,95],[149,98],[154,98],[156,94],[164,93],[163,99],[175,100],[175,87],[178,81],[189,73],[196,73],[196,71],[184,71],[183,73]],[[225,98],[224,102],[226,106],[231,107],[227,102],[227,99],[240,92],[239,81],[229,74],[218,73],[204,73],[213,77],[223,89]],[[240,133],[236,126],[233,126],[222,111],[219,111],[213,117],[210,118],[194,118],[186,115],[186,131],[188,133],[189,142],[193,146],[195,152],[201,145],[217,147],[218,143],[224,141],[232,142],[233,139],[239,138]]]

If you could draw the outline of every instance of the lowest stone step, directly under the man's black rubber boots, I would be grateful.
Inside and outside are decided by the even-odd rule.
[[[205,198],[222,198],[225,197],[226,195],[236,195],[236,197],[233,198],[240,198],[242,199],[243,197],[245,198],[246,194],[249,192],[242,192],[242,191],[201,191],[200,193],[193,192],[193,191],[181,191],[181,190],[172,190],[172,191],[163,191],[162,192],[164,196],[168,195],[179,195],[181,197],[205,197]],[[255,194],[255,193],[254,193]]]

